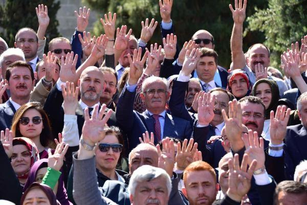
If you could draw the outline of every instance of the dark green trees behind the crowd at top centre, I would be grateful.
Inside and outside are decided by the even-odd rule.
[[[82,0],[91,9],[99,13],[99,18],[104,13],[111,11],[117,13],[117,27],[127,25],[133,29],[133,34],[139,38],[141,33],[141,21],[146,17],[155,18],[161,22],[158,0]],[[231,63],[230,36],[233,27],[232,14],[229,0],[174,0],[171,18],[178,37],[179,45],[191,39],[192,35],[200,30],[208,30],[215,38],[215,50],[220,56],[220,65],[229,68]],[[254,13],[254,8],[264,9],[267,0],[249,1],[247,15]],[[103,33],[102,25],[96,23],[93,32],[95,35]],[[257,39],[257,40],[256,40]],[[260,32],[248,32],[244,39],[244,48],[251,44],[262,42],[264,36]],[[162,45],[160,28],[155,31],[150,43]]]

